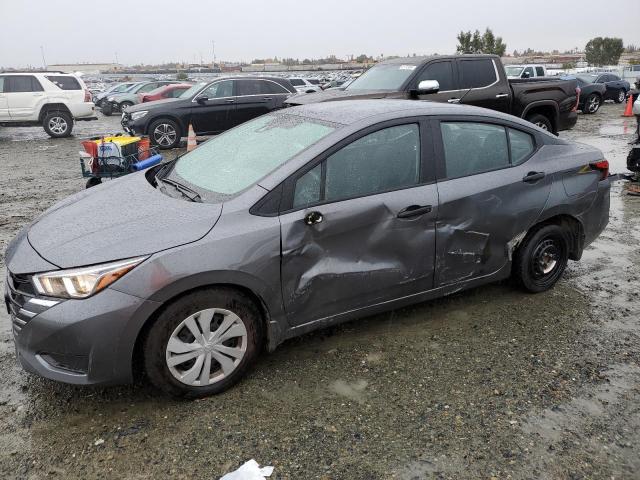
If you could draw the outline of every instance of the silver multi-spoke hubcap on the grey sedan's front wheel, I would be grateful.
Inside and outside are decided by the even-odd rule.
[[[190,315],[167,343],[171,375],[191,387],[206,387],[231,375],[247,351],[247,329],[235,313],[209,308]]]

